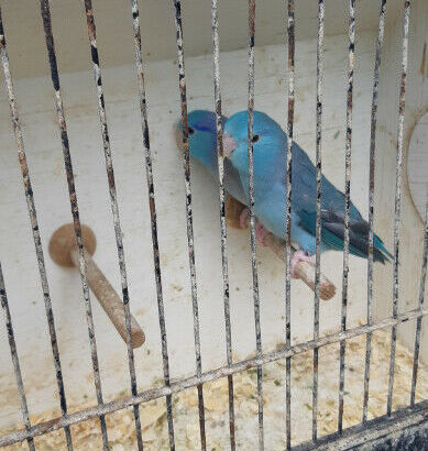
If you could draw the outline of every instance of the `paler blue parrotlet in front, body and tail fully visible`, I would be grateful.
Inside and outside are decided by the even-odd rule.
[[[274,235],[285,239],[286,150],[287,135],[282,128],[267,114],[254,111],[254,213],[264,227],[264,230],[263,228],[256,230],[261,242],[266,229]],[[238,170],[241,187],[245,193],[244,201],[239,200],[249,205],[248,111],[238,112],[226,121],[223,152],[227,157],[224,161],[229,160]],[[311,264],[315,262],[317,185],[316,168],[309,156],[295,142],[293,142],[292,153],[292,241],[298,243],[300,248],[292,258],[290,273],[294,276],[294,267],[298,261],[308,261]],[[322,176],[321,252],[343,250],[344,200],[344,195]],[[243,215],[248,215],[248,210]],[[350,253],[366,258],[369,223],[352,202],[349,217]],[[393,256],[385,249],[382,240],[375,234],[373,240],[374,261],[381,263],[389,261]]]

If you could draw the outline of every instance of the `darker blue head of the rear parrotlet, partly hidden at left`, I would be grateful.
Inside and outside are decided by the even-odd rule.
[[[227,118],[222,117],[224,124]],[[189,152],[209,170],[217,168],[217,128],[216,113],[207,110],[194,110],[187,114],[189,130]],[[183,131],[182,121],[178,124]]]

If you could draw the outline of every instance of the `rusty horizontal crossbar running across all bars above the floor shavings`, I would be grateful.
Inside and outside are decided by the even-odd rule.
[[[107,403],[100,406],[83,409],[75,414],[67,415],[64,418],[59,417],[51,421],[34,425],[30,431],[23,429],[15,432],[7,433],[0,437],[0,448],[25,440],[28,437],[35,437],[41,436],[43,433],[52,432],[54,430],[58,430],[66,426],[75,425],[77,422],[81,422],[90,418],[105,416],[113,411],[124,409],[127,407],[133,406],[134,404],[146,403],[149,400],[157,399],[163,396],[171,396],[175,393],[182,392],[187,388],[196,387],[198,385],[206,384],[211,381],[216,381],[220,377],[228,377],[231,374],[240,373],[242,371],[248,371],[256,366],[276,362],[277,360],[292,358],[294,355],[301,354],[303,352],[311,351],[316,348],[338,343],[341,340],[349,340],[362,334],[373,333],[378,329],[389,328],[392,326],[411,321],[425,316],[428,316],[428,309],[410,310],[405,314],[398,315],[396,318],[386,318],[374,324],[364,324],[359,326],[356,328],[347,329],[343,332],[331,333],[329,336],[321,337],[318,340],[310,340],[305,343],[295,344],[289,349],[284,348],[278,351],[267,352],[265,354],[262,354],[261,356],[243,360],[241,362],[233,363],[231,366],[221,366],[217,370],[211,370],[206,373],[202,373],[200,377],[191,376],[187,378],[182,378],[176,382],[173,382],[169,386],[164,385],[163,387],[146,389],[141,392],[138,396],[120,398],[118,400]]]

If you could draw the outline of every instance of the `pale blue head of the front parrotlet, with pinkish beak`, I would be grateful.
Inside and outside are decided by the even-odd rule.
[[[253,122],[254,167],[264,170],[275,162],[277,152],[286,150],[286,134],[273,119],[261,111],[254,111]],[[284,148],[283,148],[284,147]],[[224,124],[224,156],[238,170],[248,170],[248,111],[231,116]]]

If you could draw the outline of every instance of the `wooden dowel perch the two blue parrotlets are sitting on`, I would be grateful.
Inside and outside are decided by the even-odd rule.
[[[239,202],[233,197],[229,196],[226,202],[226,219],[228,226],[241,229],[240,216],[242,210],[245,208],[244,205]],[[246,219],[246,227],[250,227],[250,218]],[[264,239],[266,246],[271,248],[272,251],[283,261],[285,261],[285,241],[276,238],[274,234],[268,232]],[[296,251],[292,246],[292,256]],[[315,290],[315,267],[308,262],[298,262],[295,270],[296,275],[301,279],[311,290]],[[322,274],[320,274],[319,279],[319,297],[323,300],[331,299],[336,294],[334,285]]]

